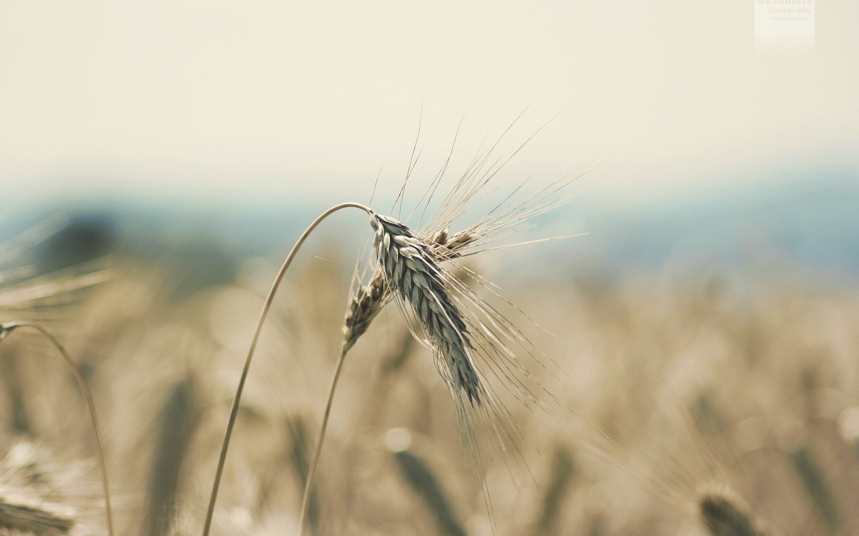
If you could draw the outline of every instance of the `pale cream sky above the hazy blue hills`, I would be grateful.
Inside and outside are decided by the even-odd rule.
[[[512,173],[624,184],[856,166],[859,3],[760,55],[754,1],[0,4],[3,196],[366,192],[560,115]],[[859,166],[857,166],[859,168]]]

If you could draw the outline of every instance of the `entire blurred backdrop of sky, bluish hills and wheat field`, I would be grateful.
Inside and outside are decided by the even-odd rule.
[[[119,532],[198,533],[295,238],[338,202],[390,212],[414,164],[410,212],[448,154],[440,190],[500,139],[453,231],[576,178],[505,243],[587,234],[468,261],[573,411],[510,407],[518,485],[465,470],[389,307],[346,364],[310,530],[859,533],[857,21],[846,0],[3,3],[0,322],[44,322],[79,364]],[[364,224],[320,226],[275,301],[219,533],[295,526]],[[78,400],[45,340],[3,340],[0,533],[13,496],[104,533]]]

